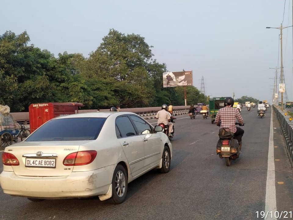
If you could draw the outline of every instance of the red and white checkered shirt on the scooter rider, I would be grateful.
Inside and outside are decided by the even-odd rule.
[[[219,109],[215,122],[218,125],[221,121],[220,128],[229,128],[231,132],[235,133],[237,130],[235,126],[236,119],[240,124],[243,124],[243,118],[239,111],[231,106],[226,106],[225,108]]]

